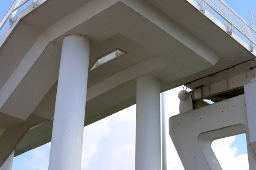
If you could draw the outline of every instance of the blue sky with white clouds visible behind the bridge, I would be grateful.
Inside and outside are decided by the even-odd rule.
[[[249,22],[249,9],[256,16],[256,0],[224,0],[224,2],[247,22]],[[0,0],[0,17],[3,17],[11,4],[12,0]],[[256,22],[256,18],[253,19]],[[167,117],[178,114],[177,93],[180,90],[179,87],[166,92],[166,102],[172,103],[166,108],[166,113],[169,114]],[[134,105],[84,128],[82,170],[134,169],[135,112],[136,106]],[[183,170],[168,134],[166,140],[167,159],[173,160],[168,162],[168,168],[170,170]],[[221,155],[229,157],[228,161],[225,160],[222,163],[220,161],[223,170],[230,170],[231,164],[234,167],[238,167],[238,164],[244,166],[248,164],[245,134],[220,139],[215,141],[213,145],[213,150],[219,161],[224,159]],[[15,157],[13,170],[47,170],[49,150],[50,143]]]

